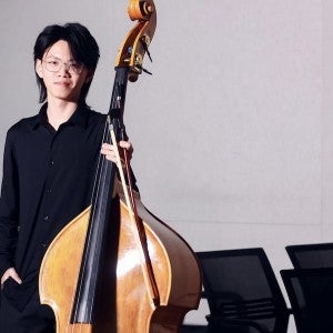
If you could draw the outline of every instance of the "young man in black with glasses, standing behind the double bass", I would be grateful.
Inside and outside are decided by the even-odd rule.
[[[85,103],[99,47],[79,23],[49,26],[34,44],[39,114],[7,133],[0,199],[1,333],[54,332],[50,307],[40,305],[42,258],[59,231],[91,200],[105,115]],[[119,143],[130,154],[130,142]]]

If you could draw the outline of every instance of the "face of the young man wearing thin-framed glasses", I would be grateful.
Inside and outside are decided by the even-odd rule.
[[[51,99],[78,102],[82,85],[92,79],[92,73],[73,59],[64,40],[56,42],[42,60],[37,60],[36,71],[47,87],[49,102]]]

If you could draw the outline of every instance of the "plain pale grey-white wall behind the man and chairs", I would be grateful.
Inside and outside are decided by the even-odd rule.
[[[0,0],[0,141],[38,111],[32,48],[80,21],[101,47],[89,103],[109,108],[128,1]],[[158,1],[152,77],[128,88],[125,123],[143,203],[195,251],[332,241],[333,4]],[[1,148],[2,149],[2,148]],[[189,314],[202,321],[205,310]],[[293,331],[293,327],[291,327]]]

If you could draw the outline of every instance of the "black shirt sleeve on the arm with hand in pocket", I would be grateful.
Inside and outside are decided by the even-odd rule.
[[[0,278],[14,266],[19,225],[19,176],[13,134],[7,133],[0,196]]]

